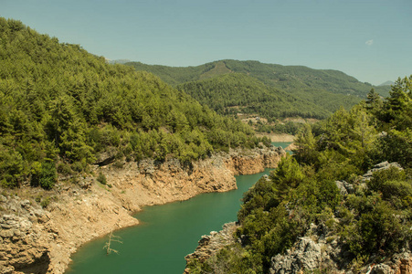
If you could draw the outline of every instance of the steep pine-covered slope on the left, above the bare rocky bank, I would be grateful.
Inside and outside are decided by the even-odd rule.
[[[259,140],[147,72],[0,18],[0,182],[52,187],[105,158],[181,161]]]

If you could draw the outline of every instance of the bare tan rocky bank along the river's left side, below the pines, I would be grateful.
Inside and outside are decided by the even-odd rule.
[[[181,164],[110,164],[93,167],[94,176],[59,180],[55,190],[19,189],[0,195],[0,273],[63,273],[82,244],[114,229],[138,224],[132,213],[206,192],[236,189],[235,174],[276,167],[280,148],[216,153]],[[96,181],[104,174],[107,184]],[[73,184],[77,181],[77,184]],[[42,196],[45,208],[38,205]],[[46,198],[45,198],[46,197]]]

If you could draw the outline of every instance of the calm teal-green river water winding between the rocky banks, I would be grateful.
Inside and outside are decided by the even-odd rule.
[[[274,142],[285,147],[289,142]],[[238,189],[226,193],[197,195],[184,202],[144,207],[135,217],[141,224],[115,231],[121,243],[112,243],[119,254],[107,256],[107,237],[79,248],[71,257],[67,274],[182,274],[185,255],[195,251],[197,241],[223,224],[237,220],[240,199],[263,173],[236,176]]]

